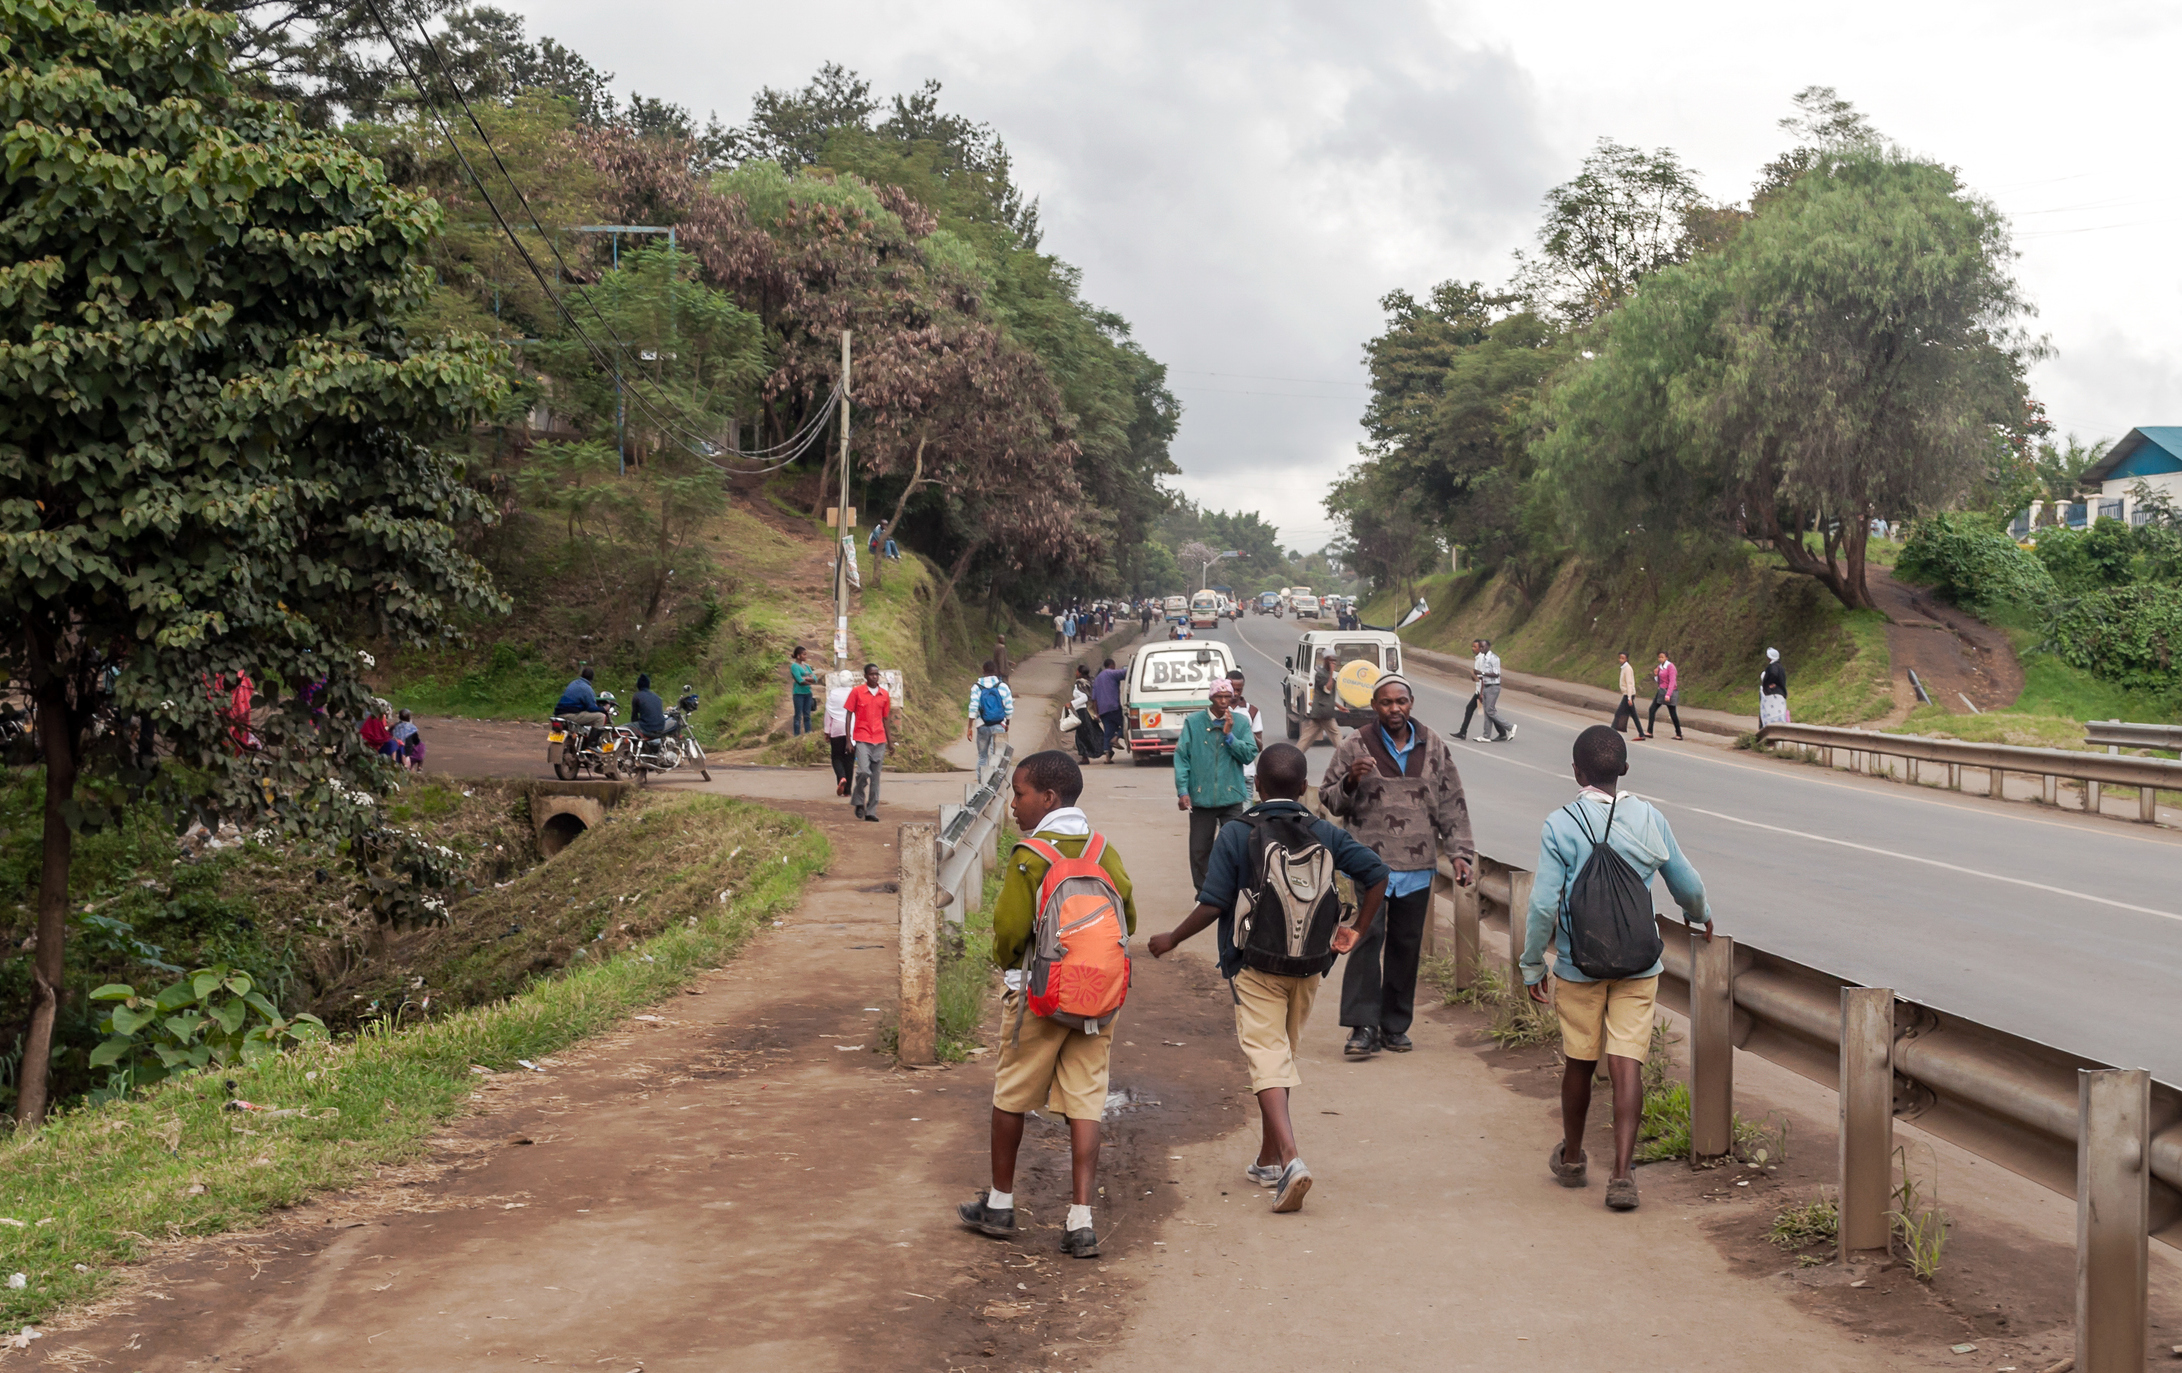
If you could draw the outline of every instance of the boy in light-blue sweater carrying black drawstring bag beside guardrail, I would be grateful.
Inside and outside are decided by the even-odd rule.
[[[1560,1144],[1547,1155],[1547,1168],[1562,1187],[1582,1187],[1588,1157],[1584,1153],[1584,1120],[1591,1115],[1591,1078],[1606,1054],[1606,1076],[1615,1087],[1615,1170],[1606,1181],[1606,1207],[1636,1209],[1636,1179],[1630,1163],[1636,1153],[1636,1124],[1643,1118],[1643,1061],[1652,1052],[1652,1017],[1658,1004],[1661,963],[1628,978],[1595,980],[1575,965],[1569,952],[1571,895],[1586,899],[1593,873],[1593,851],[1604,845],[1634,871],[1643,888],[1645,919],[1652,908],[1652,875],[1667,880],[1667,893],[1682,908],[1682,919],[1704,926],[1713,936],[1713,910],[1704,899],[1704,880],[1682,858],[1674,829],[1650,801],[1619,790],[1630,771],[1628,744],[1619,729],[1593,725],[1575,736],[1575,801],[1545,819],[1538,836],[1538,875],[1530,888],[1530,910],[1523,936],[1523,987],[1530,1000],[1560,1011],[1560,1050],[1569,1067],[1560,1078]],[[1623,871],[1621,877],[1630,877]],[[1612,882],[1608,877],[1608,882]],[[1545,950],[1554,947],[1554,982],[1547,995]]]

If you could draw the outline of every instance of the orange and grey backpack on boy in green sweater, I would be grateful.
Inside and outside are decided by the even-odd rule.
[[[1069,858],[1043,838],[1023,838],[1017,847],[1047,864],[1030,943],[1023,945],[1023,1004],[1032,1015],[1098,1035],[1128,998],[1130,967],[1122,893],[1100,867],[1106,836],[1084,840],[1082,858]]]

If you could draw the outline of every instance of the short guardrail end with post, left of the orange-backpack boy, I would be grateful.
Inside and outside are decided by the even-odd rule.
[[[938,1059],[940,919],[962,926],[984,897],[984,871],[999,849],[1002,812],[1015,749],[1002,744],[988,773],[962,788],[960,805],[938,821],[912,821],[897,836],[901,853],[901,1026],[903,1063]]]

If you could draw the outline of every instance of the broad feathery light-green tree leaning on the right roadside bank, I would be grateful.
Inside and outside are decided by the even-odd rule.
[[[1870,607],[1870,520],[1968,498],[2029,415],[2007,258],[1951,168],[1818,162],[1571,367],[1538,454],[1582,541],[1735,528]]]

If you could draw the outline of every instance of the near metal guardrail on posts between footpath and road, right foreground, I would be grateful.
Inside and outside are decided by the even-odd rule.
[[[1497,932],[1519,993],[1532,877],[1479,856],[1475,884],[1458,886],[1440,860],[1427,952],[1453,958],[1458,989],[1475,987],[1484,934]],[[1842,1249],[1883,1249],[1894,1120],[1914,1120],[2075,1196],[2075,1366],[2145,1366],[2147,1244],[2182,1246],[2182,1091],[1730,936],[1706,941],[1665,917],[1658,926],[1661,1002],[1689,1015],[1693,1155],[1733,1148],[1735,1050],[1831,1087],[1842,1105]]]

